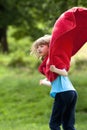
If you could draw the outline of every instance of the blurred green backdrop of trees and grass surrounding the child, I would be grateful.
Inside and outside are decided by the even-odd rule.
[[[49,130],[53,99],[30,56],[34,40],[51,34],[58,17],[83,0],[0,0],[0,130]],[[79,35],[79,34],[78,34]],[[76,128],[87,129],[87,44],[72,57],[69,77],[78,91]]]

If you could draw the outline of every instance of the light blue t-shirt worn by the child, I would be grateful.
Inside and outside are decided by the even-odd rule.
[[[50,95],[53,98],[55,98],[56,93],[75,90],[67,76],[58,76],[53,82],[51,82],[51,86]]]

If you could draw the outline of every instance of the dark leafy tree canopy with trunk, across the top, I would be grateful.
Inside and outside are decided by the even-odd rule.
[[[33,40],[50,33],[56,19],[67,9],[83,5],[82,0],[0,0],[0,43],[8,52],[7,29],[16,28],[14,37],[29,36]]]

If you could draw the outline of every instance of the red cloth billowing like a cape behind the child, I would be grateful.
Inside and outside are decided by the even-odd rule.
[[[64,12],[56,21],[50,42],[49,61],[46,76],[53,81],[58,76],[49,70],[50,65],[57,68],[70,68],[71,56],[87,41],[87,8],[74,7]]]

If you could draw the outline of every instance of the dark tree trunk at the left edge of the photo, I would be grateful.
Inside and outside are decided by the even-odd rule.
[[[0,44],[3,53],[8,52],[8,43],[7,43],[7,28],[0,28]]]

